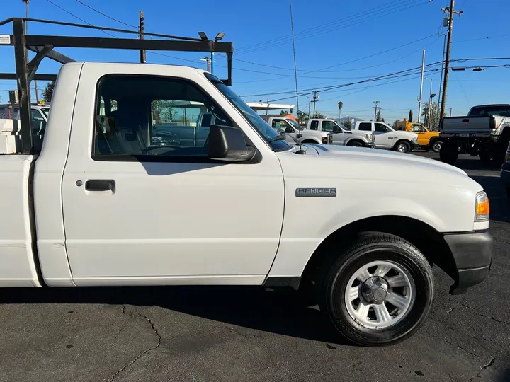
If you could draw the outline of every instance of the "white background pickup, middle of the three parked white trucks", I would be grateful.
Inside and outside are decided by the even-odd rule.
[[[329,132],[333,134],[333,144],[341,146],[375,147],[373,134],[351,131],[335,120],[326,118],[310,118],[306,126],[307,131]]]

